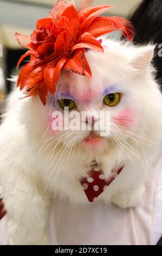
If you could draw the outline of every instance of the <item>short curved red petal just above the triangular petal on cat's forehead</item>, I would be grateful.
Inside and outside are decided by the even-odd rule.
[[[80,43],[75,45],[72,48],[72,51],[76,50],[77,48],[90,48],[93,50],[104,52],[102,45],[99,44],[96,38],[88,32],[80,36]]]

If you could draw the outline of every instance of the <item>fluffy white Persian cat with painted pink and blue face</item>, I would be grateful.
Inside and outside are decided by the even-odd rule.
[[[106,179],[124,166],[98,200],[133,207],[145,192],[158,153],[152,146],[162,138],[162,98],[151,66],[154,47],[113,40],[102,44],[104,53],[86,52],[92,79],[62,71],[57,94],[48,96],[46,106],[39,98],[20,99],[19,88],[9,96],[0,127],[0,181],[10,244],[48,243],[52,199],[89,203],[80,178],[94,163]],[[52,113],[63,112],[61,104],[79,113],[109,111],[110,134],[53,131]],[[87,120],[82,120],[86,126],[94,125]]]

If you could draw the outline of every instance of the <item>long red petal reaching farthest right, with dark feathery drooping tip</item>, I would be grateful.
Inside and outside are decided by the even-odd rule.
[[[124,36],[129,40],[132,39],[134,34],[132,24],[126,19],[119,17],[96,17],[89,25],[87,31],[97,38],[117,29],[122,29]]]

